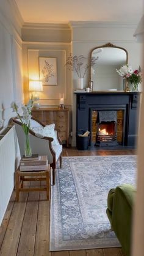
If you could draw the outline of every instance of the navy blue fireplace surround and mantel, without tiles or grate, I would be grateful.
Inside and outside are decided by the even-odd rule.
[[[90,131],[93,111],[123,111],[123,140],[121,145],[134,147],[137,141],[140,92],[75,92],[76,135]],[[90,146],[92,141],[90,139]]]

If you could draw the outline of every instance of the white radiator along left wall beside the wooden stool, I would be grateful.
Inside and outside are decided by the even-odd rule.
[[[14,172],[18,160],[16,156],[19,155],[19,151],[13,126],[0,141],[0,225],[13,191]]]

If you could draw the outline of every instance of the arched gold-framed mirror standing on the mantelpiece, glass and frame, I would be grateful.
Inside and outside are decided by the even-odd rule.
[[[126,49],[107,43],[92,49],[90,61],[98,57],[96,65],[90,68],[90,81],[93,90],[124,90],[124,80],[118,75],[116,68],[128,64],[128,52]]]

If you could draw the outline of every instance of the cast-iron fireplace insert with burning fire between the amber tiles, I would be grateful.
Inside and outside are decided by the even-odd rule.
[[[98,111],[96,121],[96,146],[116,146],[117,111]]]

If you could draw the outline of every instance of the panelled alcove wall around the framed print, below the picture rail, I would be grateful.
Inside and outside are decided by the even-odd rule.
[[[41,106],[54,106],[60,104],[60,94],[64,95],[64,104],[71,105],[71,74],[67,72],[65,61],[71,48],[68,43],[24,43],[23,67],[24,90],[26,101],[29,99],[29,80],[39,80],[39,57],[57,58],[57,85],[43,86],[43,92],[39,92]],[[70,81],[70,82],[69,82]],[[31,93],[30,93],[31,94]]]

